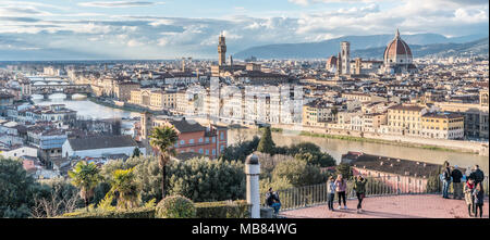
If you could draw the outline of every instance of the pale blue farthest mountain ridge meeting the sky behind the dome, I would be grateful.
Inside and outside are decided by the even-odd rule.
[[[372,52],[372,54],[378,52],[379,50],[377,48],[381,48],[382,50],[384,50],[385,46],[393,39],[393,35],[345,36],[319,42],[258,46],[237,52],[233,55],[233,58],[247,59],[249,56],[256,56],[258,59],[326,59],[330,55],[335,55],[339,52],[341,41],[350,41],[351,51],[353,53],[356,50],[366,50],[366,52],[363,52],[363,54],[369,55],[370,52]],[[405,40],[411,46],[411,48],[412,46],[428,46],[438,43],[457,45],[468,41],[476,41],[485,37],[487,37],[488,39],[488,36],[483,35],[469,35],[464,37],[448,38],[438,34],[402,34],[402,39]],[[376,55],[376,58],[381,59],[382,51],[381,55],[378,54]]]

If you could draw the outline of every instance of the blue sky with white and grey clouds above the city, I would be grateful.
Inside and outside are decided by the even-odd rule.
[[[1,50],[65,49],[107,59],[215,58],[346,35],[487,34],[488,0],[0,0]]]

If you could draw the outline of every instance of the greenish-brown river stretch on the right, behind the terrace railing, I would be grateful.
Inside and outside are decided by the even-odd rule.
[[[242,129],[242,138],[252,139],[255,135],[260,136],[256,129]],[[238,139],[238,130],[229,130],[229,144],[233,144]],[[292,134],[272,132],[272,139],[277,146],[291,146],[299,142],[314,142],[321,148],[322,151],[332,155],[339,163],[342,154],[348,151],[365,152],[368,154],[389,156],[394,159],[414,160],[428,163],[442,164],[449,161],[451,165],[458,165],[460,167],[468,167],[475,164],[480,165],[480,168],[488,175],[489,157],[471,153],[437,151],[429,149],[400,147],[372,142],[347,141],[340,139],[327,139],[308,136],[298,136]]]

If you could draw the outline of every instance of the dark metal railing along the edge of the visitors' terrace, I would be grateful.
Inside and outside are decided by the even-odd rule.
[[[366,197],[383,197],[400,194],[442,194],[442,182],[439,177],[433,178],[411,178],[403,176],[367,177]],[[346,198],[355,199],[353,189],[354,180],[347,180]],[[452,185],[449,192],[452,194]],[[483,180],[485,193],[489,194],[489,177]],[[279,190],[281,200],[281,211],[308,207],[326,204],[328,202],[328,186],[319,184],[298,188]],[[266,192],[260,193],[261,205],[266,205]],[[338,202],[338,195],[334,202]]]

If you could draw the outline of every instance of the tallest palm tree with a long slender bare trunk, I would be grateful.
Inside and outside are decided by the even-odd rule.
[[[173,127],[162,126],[154,128],[150,136],[150,144],[160,152],[158,165],[161,170],[161,195],[166,198],[166,166],[170,162],[170,156],[175,155],[173,144],[179,140],[179,135]]]

